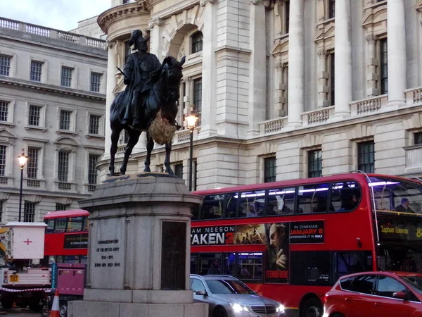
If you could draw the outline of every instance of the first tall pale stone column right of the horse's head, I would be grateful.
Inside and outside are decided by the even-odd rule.
[[[200,0],[205,6],[203,12],[203,71],[202,71],[202,114],[200,118],[200,138],[217,135],[217,6],[216,0]]]

